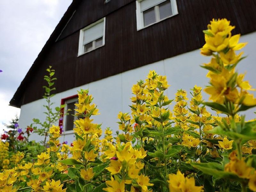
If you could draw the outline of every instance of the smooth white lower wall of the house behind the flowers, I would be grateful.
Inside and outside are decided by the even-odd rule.
[[[244,55],[248,57],[239,63],[237,69],[240,73],[247,72],[245,80],[249,80],[251,85],[256,88],[256,32],[242,36],[240,42],[248,42],[247,46],[243,49]],[[132,85],[136,84],[140,79],[144,80],[149,70],[155,70],[158,74],[167,76],[168,83],[171,86],[166,94],[170,99],[173,99],[174,94],[180,88],[185,89],[189,93],[189,89],[195,84],[201,87],[208,84],[208,78],[205,77],[207,70],[199,67],[199,65],[209,62],[210,59],[210,57],[202,56],[200,50],[195,50],[58,93],[52,98],[52,102],[55,103],[55,106],[60,106],[62,98],[75,95],[77,90],[81,88],[89,89],[89,93],[94,97],[93,102],[98,105],[100,112],[100,115],[94,116],[95,123],[102,123],[102,129],[111,127],[113,132],[115,132],[118,130],[118,124],[116,124],[118,112],[130,112],[128,105],[131,105]],[[256,96],[256,94],[254,95]],[[209,99],[209,96],[204,92],[203,96],[205,100]],[[40,99],[21,106],[19,121],[21,128],[31,124],[33,118],[44,121],[44,102],[43,99]],[[255,110],[248,110],[246,119],[255,118],[253,113]],[[31,139],[40,140],[37,135],[33,135]],[[68,140],[68,143],[70,143],[74,140],[74,135],[65,135],[60,140],[61,142]]]

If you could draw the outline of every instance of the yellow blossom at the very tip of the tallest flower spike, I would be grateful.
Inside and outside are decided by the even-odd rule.
[[[227,19],[212,19],[207,28],[212,35],[226,36],[235,28],[235,26],[231,26],[229,24],[230,21]]]

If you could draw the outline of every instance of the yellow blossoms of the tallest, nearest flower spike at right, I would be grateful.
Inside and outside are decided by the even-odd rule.
[[[244,74],[237,74],[235,67],[242,59],[243,52],[236,55],[246,43],[238,43],[240,34],[231,36],[234,26],[227,19],[212,20],[205,33],[205,45],[201,49],[204,55],[212,55],[212,60],[204,64],[209,73],[211,86],[204,91],[211,95],[210,100],[223,104],[231,101],[235,105],[256,105],[256,99],[247,90],[251,85],[244,81]],[[240,92],[238,91],[240,89]]]

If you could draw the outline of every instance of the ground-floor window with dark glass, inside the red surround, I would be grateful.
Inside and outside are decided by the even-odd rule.
[[[78,98],[65,100],[65,110],[71,109],[71,111],[68,111],[68,114],[66,114],[63,118],[64,133],[67,131],[73,131],[73,129],[76,127],[74,124],[74,121],[77,119],[77,116],[74,116],[76,113],[75,103],[78,103]]]

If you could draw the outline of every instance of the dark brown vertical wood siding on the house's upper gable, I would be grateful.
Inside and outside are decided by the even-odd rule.
[[[27,75],[29,80],[19,94],[16,92],[11,105],[20,106],[42,98],[43,76],[49,65],[56,70],[56,93],[63,92],[198,49],[204,44],[202,30],[212,18],[231,20],[236,26],[234,34],[256,30],[254,0],[177,0],[178,15],[139,31],[134,0],[111,0],[106,5],[99,2],[103,0],[84,0],[79,4],[59,40],[36,61],[38,67]],[[104,16],[105,46],[77,57],[79,30]]]

